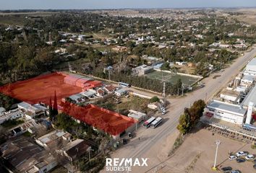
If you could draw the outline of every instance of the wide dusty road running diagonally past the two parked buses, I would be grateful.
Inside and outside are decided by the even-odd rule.
[[[184,107],[189,107],[190,104],[195,102],[197,99],[207,99],[213,97],[219,89],[226,86],[229,81],[239,73],[239,71],[247,64],[247,62],[256,55],[256,47],[252,49],[249,53],[245,53],[244,56],[239,57],[234,61],[234,63],[226,68],[223,72],[218,72],[212,74],[212,76],[207,79],[203,79],[205,82],[205,87],[198,89],[195,92],[187,94],[187,97],[182,97],[179,99],[168,99],[171,102],[171,107],[168,108],[168,113],[163,116],[166,118],[160,127],[148,130],[140,129],[137,133],[137,138],[140,137],[140,141],[137,138],[133,139],[124,148],[119,149],[114,153],[115,157],[119,158],[149,158],[152,160],[149,167],[136,168],[136,172],[147,172],[150,167],[154,167],[158,162],[155,160],[157,153],[153,154],[151,148],[155,145],[161,146],[161,142],[165,141],[166,137],[171,135],[176,131],[176,125],[178,124],[179,116],[184,111]],[[221,75],[216,79],[213,76]],[[135,171],[132,171],[135,172]],[[151,171],[152,172],[152,171]]]

